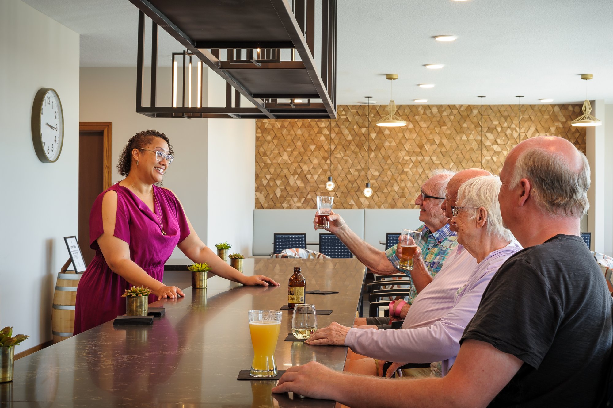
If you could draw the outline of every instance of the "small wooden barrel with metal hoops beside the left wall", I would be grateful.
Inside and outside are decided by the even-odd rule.
[[[75,271],[58,273],[58,282],[53,294],[53,311],[51,312],[51,329],[53,343],[58,343],[72,336],[75,325],[75,301],[77,286],[81,274]]]

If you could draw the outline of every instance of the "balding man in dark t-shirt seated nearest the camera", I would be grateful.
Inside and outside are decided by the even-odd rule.
[[[568,140],[541,136],[509,152],[498,195],[504,223],[524,247],[501,266],[442,379],[402,383],[321,364],[292,367],[273,392],[351,407],[593,407],[611,360],[611,294],[579,236],[590,169]],[[394,395],[387,404],[381,401]]]

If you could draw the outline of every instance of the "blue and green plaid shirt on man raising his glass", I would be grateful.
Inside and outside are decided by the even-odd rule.
[[[428,272],[432,277],[438,273],[443,267],[443,262],[447,259],[447,256],[454,250],[457,242],[457,233],[454,233],[449,229],[449,224],[445,224],[443,228],[430,232],[430,229],[427,226],[422,225],[417,228],[416,231],[421,231],[422,237],[421,241],[419,241],[419,248],[422,252],[422,260],[424,260],[425,266],[428,268]],[[398,244],[389,248],[386,251],[387,260],[394,266],[394,268],[398,269],[400,265],[400,260],[398,256],[396,256],[396,248]],[[404,271],[403,269],[398,269],[398,271],[403,272],[404,274],[411,276],[410,271]],[[408,304],[413,304],[413,300],[417,296],[417,290],[413,282],[411,282],[411,294],[409,294]]]

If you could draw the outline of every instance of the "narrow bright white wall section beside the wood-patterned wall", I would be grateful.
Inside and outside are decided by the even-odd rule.
[[[248,106],[245,102],[242,99],[241,106]],[[208,71],[208,106],[225,103],[226,82]],[[209,119],[208,152],[208,245],[227,241],[232,244],[230,252],[251,256],[256,204],[256,121]]]

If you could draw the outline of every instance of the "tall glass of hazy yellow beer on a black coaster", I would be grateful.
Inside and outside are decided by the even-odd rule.
[[[274,377],[276,375],[275,348],[281,328],[281,314],[278,310],[249,310],[249,332],[253,344],[252,377]]]

